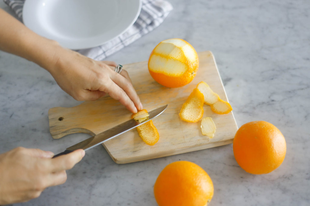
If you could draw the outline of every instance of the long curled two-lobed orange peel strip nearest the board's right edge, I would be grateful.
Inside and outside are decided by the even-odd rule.
[[[211,106],[211,110],[216,114],[228,114],[232,111],[230,104],[219,98],[206,82],[200,82],[196,87],[204,96],[204,103]]]

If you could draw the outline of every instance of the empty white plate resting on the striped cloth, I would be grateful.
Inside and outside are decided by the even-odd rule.
[[[26,0],[24,24],[70,49],[91,48],[121,35],[141,10],[140,0]]]

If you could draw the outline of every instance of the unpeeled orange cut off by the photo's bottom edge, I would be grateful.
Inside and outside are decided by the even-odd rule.
[[[154,195],[159,206],[206,206],[213,196],[209,175],[193,162],[167,165],[158,175]]]

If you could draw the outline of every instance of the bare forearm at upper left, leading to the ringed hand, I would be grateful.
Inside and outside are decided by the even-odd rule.
[[[57,49],[60,49],[57,42],[34,33],[0,9],[0,50],[28,59],[50,70],[49,65],[57,61],[55,56]]]

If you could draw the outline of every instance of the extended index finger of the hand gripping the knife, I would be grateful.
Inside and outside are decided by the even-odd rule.
[[[69,154],[51,159],[52,172],[71,169],[76,163],[81,161],[84,155],[85,151],[83,149],[77,149]]]

